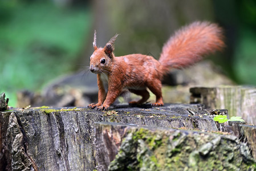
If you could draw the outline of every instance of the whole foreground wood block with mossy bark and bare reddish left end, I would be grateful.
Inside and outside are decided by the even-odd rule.
[[[238,137],[181,129],[95,124],[99,170],[254,170]]]

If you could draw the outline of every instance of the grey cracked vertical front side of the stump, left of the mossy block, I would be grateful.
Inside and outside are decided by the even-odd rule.
[[[3,112],[2,115],[9,119],[6,135],[2,135],[6,170],[94,169],[93,124],[101,121],[102,116],[82,111],[45,113],[40,110]],[[21,148],[21,139],[23,150],[15,152]],[[15,162],[15,153],[22,156],[17,161],[27,162]]]

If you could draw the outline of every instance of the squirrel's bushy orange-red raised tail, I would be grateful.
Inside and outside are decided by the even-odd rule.
[[[162,47],[159,62],[164,73],[170,68],[184,68],[198,62],[202,56],[221,50],[222,28],[209,22],[193,22],[175,32]]]

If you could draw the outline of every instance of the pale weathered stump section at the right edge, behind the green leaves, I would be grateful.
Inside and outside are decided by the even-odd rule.
[[[190,103],[206,108],[227,109],[231,116],[242,116],[248,124],[256,125],[256,87],[219,86],[190,88]]]

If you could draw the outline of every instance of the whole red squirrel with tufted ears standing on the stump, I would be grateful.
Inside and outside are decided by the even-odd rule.
[[[98,103],[88,105],[89,108],[107,110],[124,89],[142,97],[129,104],[143,104],[149,98],[147,88],[156,95],[152,106],[162,106],[161,80],[171,68],[191,66],[202,56],[225,46],[222,28],[209,22],[193,22],[176,31],[162,47],[159,60],[142,54],[115,56],[113,43],[117,35],[102,48],[96,46],[96,31],[94,33],[90,70],[97,74],[99,94]]]

